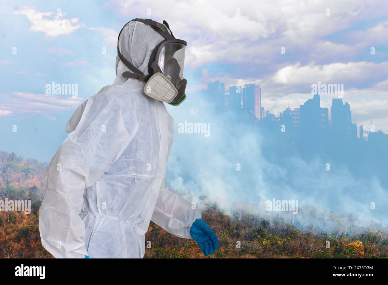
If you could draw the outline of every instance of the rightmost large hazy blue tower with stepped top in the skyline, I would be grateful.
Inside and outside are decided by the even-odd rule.
[[[331,126],[337,136],[351,136],[352,111],[348,102],[343,104],[341,98],[334,98],[331,103]]]

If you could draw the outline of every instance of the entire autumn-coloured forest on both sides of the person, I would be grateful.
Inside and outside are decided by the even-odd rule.
[[[0,151],[0,200],[31,201],[30,214],[0,211],[0,258],[52,257],[39,235],[46,168],[46,163],[36,159]],[[175,237],[151,222],[145,235],[145,258],[388,257],[386,230],[375,225],[357,227],[353,214],[330,212],[328,219],[338,226],[317,230],[278,215],[260,215],[244,205],[226,214],[206,196],[200,199],[203,219],[217,234],[220,250],[205,257],[194,240]]]

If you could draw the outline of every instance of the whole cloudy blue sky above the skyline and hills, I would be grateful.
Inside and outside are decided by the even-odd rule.
[[[215,80],[259,83],[279,114],[312,84],[343,84],[353,122],[388,132],[385,1],[169,3],[0,0],[0,148],[48,161],[76,107],[114,81],[117,35],[135,17],[165,19],[188,42],[189,98]],[[47,95],[52,82],[76,85],[77,97]],[[321,98],[329,107],[333,95]]]

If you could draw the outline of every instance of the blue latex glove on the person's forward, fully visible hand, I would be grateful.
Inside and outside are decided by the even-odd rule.
[[[191,237],[201,247],[205,256],[218,250],[218,237],[202,219],[196,219],[190,228]]]

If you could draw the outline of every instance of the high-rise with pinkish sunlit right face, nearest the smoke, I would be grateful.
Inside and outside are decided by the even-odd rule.
[[[262,88],[260,84],[244,84],[242,88],[242,109],[261,119]]]

